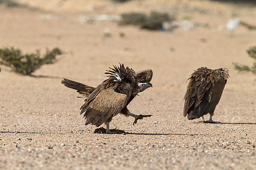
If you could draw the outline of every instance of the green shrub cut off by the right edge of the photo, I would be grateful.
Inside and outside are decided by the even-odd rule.
[[[256,46],[251,47],[247,50],[247,53],[250,57],[256,60]],[[256,61],[253,63],[252,67],[249,67],[247,65],[240,65],[238,63],[233,63],[235,65],[235,69],[239,72],[241,71],[251,71],[253,74],[256,74]]]

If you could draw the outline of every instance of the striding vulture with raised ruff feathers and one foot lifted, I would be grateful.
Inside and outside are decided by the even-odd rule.
[[[127,108],[138,93],[152,87],[150,81],[153,71],[151,69],[136,73],[132,68],[125,68],[123,64],[120,64],[119,66],[113,65],[113,68],[107,70],[105,74],[107,74],[107,79],[96,88],[69,79],[61,81],[66,87],[77,90],[82,97],[86,98],[84,105],[80,108],[80,115],[84,114],[86,119],[85,125],[91,124],[99,127],[105,123],[106,133],[115,133],[110,131],[109,123],[118,113],[133,116],[135,118],[133,125],[138,119],[152,116],[135,115]]]

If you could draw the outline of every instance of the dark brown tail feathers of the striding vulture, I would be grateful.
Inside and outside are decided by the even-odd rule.
[[[79,94],[82,94],[82,95],[91,94],[95,90],[94,87],[84,85],[80,82],[75,82],[75,81],[72,81],[69,79],[63,79],[63,80],[61,80],[61,83],[64,84],[68,88],[77,90],[77,92],[79,92]]]

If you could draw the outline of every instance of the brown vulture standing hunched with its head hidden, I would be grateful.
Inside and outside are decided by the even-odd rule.
[[[184,96],[183,116],[189,120],[201,117],[204,123],[204,115],[209,113],[208,122],[214,123],[212,116],[230,77],[228,73],[227,68],[212,70],[207,67],[198,68],[192,73]]]

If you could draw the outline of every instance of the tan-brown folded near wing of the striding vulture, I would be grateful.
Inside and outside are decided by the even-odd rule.
[[[108,119],[116,116],[125,106],[128,97],[125,94],[115,92],[116,85],[109,88],[98,86],[81,106],[81,114],[84,113],[86,125],[92,124],[99,127]]]

